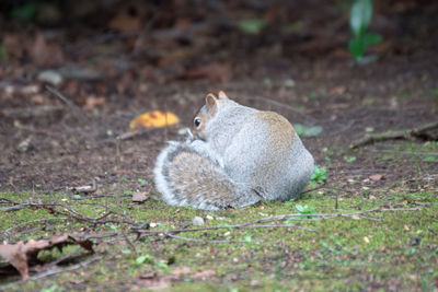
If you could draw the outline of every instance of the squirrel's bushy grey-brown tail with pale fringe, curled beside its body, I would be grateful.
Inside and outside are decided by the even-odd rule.
[[[189,143],[174,142],[163,149],[153,172],[155,186],[169,205],[219,210],[262,200],[255,190],[234,183],[208,153],[199,153]]]

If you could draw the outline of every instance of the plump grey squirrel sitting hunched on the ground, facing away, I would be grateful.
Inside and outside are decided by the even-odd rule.
[[[285,117],[222,91],[207,95],[192,131],[157,157],[155,187],[169,205],[220,210],[290,200],[313,174],[313,156]]]

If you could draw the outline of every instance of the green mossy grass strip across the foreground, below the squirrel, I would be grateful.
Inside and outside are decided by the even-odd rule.
[[[41,281],[20,284],[20,290],[42,290],[57,287],[65,291],[74,290],[78,283],[96,290],[120,290],[142,287],[139,276],[152,270],[158,275],[172,275],[176,269],[188,267],[191,272],[172,283],[174,291],[239,291],[289,290],[291,287],[304,290],[361,290],[369,287],[399,290],[419,290],[430,288],[438,280],[438,206],[425,206],[416,211],[392,211],[367,213],[365,218],[334,218],[309,220],[306,210],[312,213],[349,213],[379,208],[382,205],[396,208],[417,207],[416,202],[438,202],[431,191],[399,195],[391,189],[380,190],[392,194],[370,200],[353,195],[338,200],[334,209],[334,198],[324,194],[307,194],[293,205],[269,201],[261,206],[239,210],[206,212],[191,208],[175,208],[159,201],[147,200],[143,205],[134,205],[130,198],[71,200],[66,195],[34,195],[24,192],[0,194],[11,200],[62,201],[70,208],[88,217],[99,217],[105,208],[127,214],[136,223],[155,221],[151,230],[172,230],[180,227],[196,217],[206,219],[206,226],[233,225],[260,220],[267,217],[296,213],[301,206],[302,218],[288,222],[298,227],[264,229],[219,229],[180,233],[180,236],[201,240],[243,241],[244,243],[211,244],[207,242],[187,242],[163,235],[150,235],[135,241],[128,235],[135,252],[124,238],[111,243],[103,240],[95,247],[103,258],[76,271],[67,271]],[[373,190],[379,192],[379,190]],[[92,202],[95,202],[94,205]],[[122,209],[116,209],[120,206]],[[306,206],[308,206],[306,208]],[[401,206],[401,207],[400,207]],[[306,210],[304,210],[306,209]],[[210,219],[207,219],[209,215]],[[35,219],[57,218],[60,215],[46,210],[25,208],[13,212],[0,213],[1,230]],[[212,218],[212,219],[211,219]],[[59,233],[77,233],[87,229],[90,234],[105,231],[129,231],[127,224],[117,222],[92,225],[74,220],[54,221],[23,225],[11,231],[10,241],[30,240]],[[44,229],[42,229],[45,226]],[[299,227],[313,229],[310,232]],[[129,233],[128,233],[129,234]],[[2,234],[4,238],[4,234]],[[250,240],[251,238],[251,240]],[[367,238],[367,240],[366,240]],[[105,238],[108,240],[108,238]],[[125,252],[124,252],[125,250]],[[130,252],[126,252],[130,250]],[[42,254],[46,260],[59,258],[62,254],[49,252]],[[65,264],[67,265],[67,264]],[[205,281],[193,279],[197,272],[212,269],[215,276]],[[0,285],[4,284],[4,280]]]

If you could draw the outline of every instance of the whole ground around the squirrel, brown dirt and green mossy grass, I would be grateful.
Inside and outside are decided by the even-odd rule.
[[[188,40],[165,37],[162,27],[142,39],[3,23],[10,50],[0,67],[1,240],[76,234],[95,253],[41,252],[26,282],[4,264],[0,289],[437,290],[436,131],[350,148],[367,135],[437,121],[438,5],[402,2],[378,7],[374,28],[384,40],[371,51],[379,58],[362,66],[345,48],[347,14],[328,4],[286,36],[209,22]],[[307,15],[311,8],[297,9]],[[62,77],[49,85],[67,102],[45,89],[47,69]],[[297,201],[240,210],[161,202],[152,177],[158,152],[183,139],[204,96],[219,90],[295,125],[321,126],[302,140],[326,168],[326,183],[312,183]],[[175,113],[181,124],[117,139],[154,109]],[[91,192],[74,189],[93,184]],[[146,200],[134,202],[139,192]],[[195,217],[205,224],[194,226]]]

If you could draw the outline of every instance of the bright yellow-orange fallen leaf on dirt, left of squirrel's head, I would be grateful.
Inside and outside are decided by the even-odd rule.
[[[129,129],[137,127],[143,128],[162,128],[166,126],[175,125],[180,121],[178,117],[170,112],[153,110],[145,113],[131,120]]]

